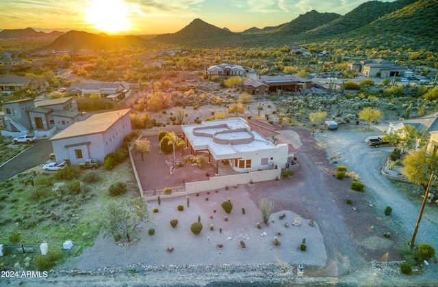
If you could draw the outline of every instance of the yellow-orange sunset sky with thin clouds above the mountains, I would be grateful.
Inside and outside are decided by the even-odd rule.
[[[175,33],[201,18],[240,32],[278,26],[311,10],[344,15],[363,2],[366,0],[0,0],[0,29],[162,34]]]

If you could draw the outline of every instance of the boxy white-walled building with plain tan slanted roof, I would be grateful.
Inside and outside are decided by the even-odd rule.
[[[116,151],[131,133],[131,109],[96,113],[75,122],[50,139],[57,163],[78,164],[86,159],[103,159]]]

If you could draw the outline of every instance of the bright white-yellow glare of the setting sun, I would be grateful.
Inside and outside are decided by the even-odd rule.
[[[129,7],[123,0],[93,0],[86,9],[86,21],[92,28],[104,32],[121,32],[131,29]]]

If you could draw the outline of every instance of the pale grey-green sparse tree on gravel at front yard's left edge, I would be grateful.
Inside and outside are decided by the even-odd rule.
[[[130,242],[140,238],[140,224],[151,220],[148,205],[142,197],[112,200],[106,208],[104,228],[115,241]]]

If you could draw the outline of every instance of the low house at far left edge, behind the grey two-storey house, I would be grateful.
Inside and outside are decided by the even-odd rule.
[[[25,88],[36,92],[47,90],[49,83],[45,80],[31,79],[29,77],[3,76],[0,77],[1,94],[10,94]]]

